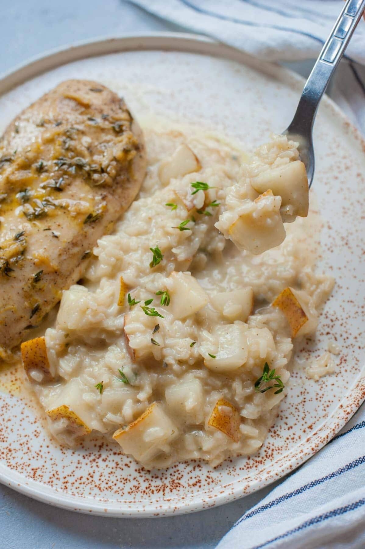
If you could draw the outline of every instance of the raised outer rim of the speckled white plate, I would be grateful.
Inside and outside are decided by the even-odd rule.
[[[120,53],[127,51],[143,50],[163,50],[163,51],[181,51],[198,54],[211,55],[213,57],[225,58],[238,63],[248,65],[256,70],[264,72],[267,75],[275,77],[276,80],[293,85],[298,88],[303,86],[304,79],[294,72],[284,69],[273,63],[254,58],[252,55],[241,52],[235,48],[226,46],[213,41],[208,37],[192,35],[189,33],[178,32],[150,32],[143,34],[129,34],[123,37],[101,37],[92,41],[79,42],[72,46],[61,47],[45,53],[39,57],[32,58],[26,63],[19,65],[14,70],[0,75],[0,94],[10,91],[10,89],[19,86],[27,80],[55,69],[57,66],[72,63],[72,61],[95,57],[110,53]],[[338,116],[341,123],[346,126],[347,133],[352,135],[357,143],[365,150],[365,141],[357,128],[351,124],[339,107],[327,96],[323,97],[322,103],[330,107]],[[195,494],[191,501],[176,501],[177,498],[169,498],[166,501],[166,508],[158,509],[152,505],[145,506],[144,502],[133,502],[128,506],[128,501],[101,501],[95,500],[92,504],[85,501],[80,496],[64,494],[61,491],[54,490],[45,484],[38,483],[25,478],[16,471],[9,470],[4,464],[0,463],[0,483],[21,492],[22,494],[35,498],[38,501],[49,503],[56,507],[69,509],[82,513],[94,513],[109,517],[162,517],[170,514],[183,514],[201,511],[204,508],[222,505],[232,500],[236,500],[256,490],[264,488],[273,481],[282,478],[300,464],[308,460],[314,453],[320,450],[330,439],[332,439],[339,430],[344,427],[351,416],[357,411],[358,407],[365,399],[365,366],[359,372],[358,378],[347,391],[344,399],[338,403],[337,408],[322,423],[322,425],[311,433],[306,439],[301,441],[289,452],[278,458],[274,464],[269,463],[262,469],[256,478],[240,478],[230,484],[219,486],[215,497],[209,496],[209,500],[204,498],[202,493]],[[233,485],[233,489],[232,489]],[[136,506],[140,503],[140,508]]]

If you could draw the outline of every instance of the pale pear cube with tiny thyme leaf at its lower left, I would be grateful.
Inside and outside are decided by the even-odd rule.
[[[247,324],[236,321],[234,324],[214,326],[208,337],[202,333],[199,352],[204,365],[215,372],[232,372],[247,360]]]

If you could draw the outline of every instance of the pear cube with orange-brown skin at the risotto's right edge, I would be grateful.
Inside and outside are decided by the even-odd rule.
[[[272,302],[287,317],[292,337],[299,337],[315,332],[318,324],[317,315],[309,308],[309,296],[300,290],[285,288]]]

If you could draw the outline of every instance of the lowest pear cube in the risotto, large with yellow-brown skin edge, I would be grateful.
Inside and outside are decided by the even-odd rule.
[[[113,439],[122,447],[123,453],[146,462],[161,452],[168,452],[170,442],[178,435],[178,428],[163,410],[161,402],[153,402],[134,422],[118,429]]]

